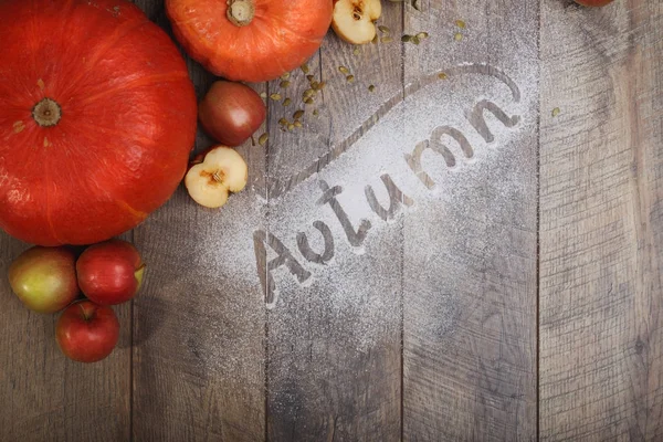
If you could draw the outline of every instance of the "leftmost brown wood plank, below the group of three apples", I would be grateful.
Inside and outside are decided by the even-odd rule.
[[[69,360],[55,341],[59,315],[28,311],[9,287],[28,244],[0,233],[0,440],[118,441],[129,438],[130,305],[118,306],[118,348],[94,365]]]

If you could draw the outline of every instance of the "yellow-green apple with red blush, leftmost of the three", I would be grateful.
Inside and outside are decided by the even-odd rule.
[[[9,284],[28,308],[55,313],[78,295],[75,262],[66,248],[29,249],[9,267]]]

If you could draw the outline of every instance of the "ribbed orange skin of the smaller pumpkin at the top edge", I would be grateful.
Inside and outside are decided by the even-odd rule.
[[[318,50],[332,23],[333,0],[240,1],[254,10],[244,25],[231,21],[227,0],[166,0],[172,30],[187,53],[232,81],[264,82],[301,66]]]

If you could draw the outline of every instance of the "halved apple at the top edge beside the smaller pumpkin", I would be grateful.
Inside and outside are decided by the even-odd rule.
[[[376,36],[373,22],[381,14],[380,0],[335,0],[332,28],[348,43],[369,43]]]

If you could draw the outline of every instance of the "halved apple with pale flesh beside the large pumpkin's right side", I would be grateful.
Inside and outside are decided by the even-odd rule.
[[[215,209],[225,204],[231,192],[244,189],[248,179],[249,168],[242,156],[230,147],[217,146],[193,160],[185,186],[196,202]]]

